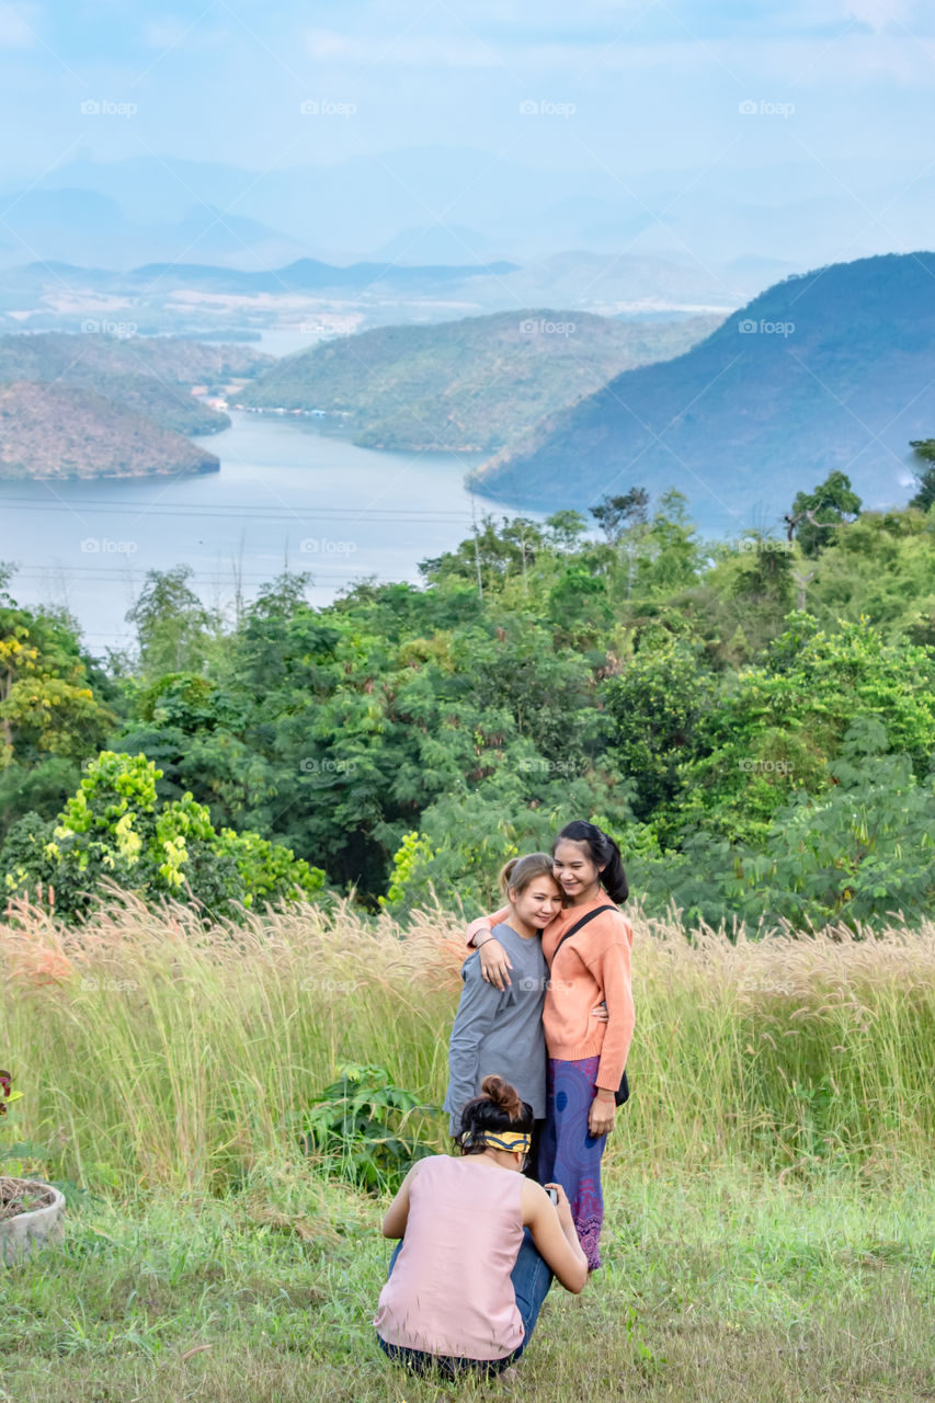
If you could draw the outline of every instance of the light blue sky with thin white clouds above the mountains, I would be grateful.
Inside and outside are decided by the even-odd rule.
[[[427,140],[546,171],[928,161],[934,70],[931,0],[0,0],[0,174]]]

